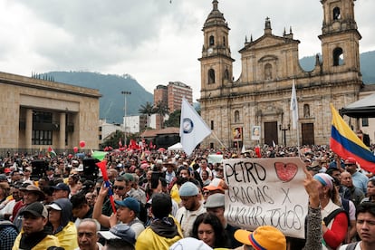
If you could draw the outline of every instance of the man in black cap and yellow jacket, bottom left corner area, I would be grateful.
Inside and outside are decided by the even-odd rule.
[[[23,220],[21,233],[16,237],[13,250],[47,249],[60,246],[56,236],[48,235],[44,226],[48,222],[48,211],[40,202],[31,203],[20,213]]]

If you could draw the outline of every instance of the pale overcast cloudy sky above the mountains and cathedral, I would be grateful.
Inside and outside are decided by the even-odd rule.
[[[321,52],[319,0],[219,0],[231,28],[235,78],[245,36],[256,39],[269,16],[273,33],[292,26],[300,58]],[[375,50],[374,0],[355,2],[361,53]],[[203,33],[212,0],[1,0],[0,71],[129,73],[147,91],[187,83],[199,98]]]

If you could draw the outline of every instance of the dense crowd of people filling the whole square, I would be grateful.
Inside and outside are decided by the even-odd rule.
[[[91,155],[7,155],[0,249],[375,249],[375,178],[356,159],[324,146],[259,152],[114,149],[102,161],[106,175]],[[305,239],[274,226],[230,225],[224,168],[213,155],[300,157],[309,196]]]

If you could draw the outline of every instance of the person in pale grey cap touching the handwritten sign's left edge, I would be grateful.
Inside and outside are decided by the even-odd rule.
[[[239,243],[235,238],[235,232],[237,229],[239,229],[239,227],[229,225],[226,221],[226,217],[224,216],[224,211],[226,209],[225,195],[220,193],[210,195],[207,197],[205,207],[208,213],[214,214],[220,219],[223,228],[225,228],[224,230],[226,236],[230,241],[230,246],[232,248],[241,246],[241,243]]]

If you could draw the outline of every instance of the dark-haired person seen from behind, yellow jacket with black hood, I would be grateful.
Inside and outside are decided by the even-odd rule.
[[[137,238],[136,250],[168,249],[183,238],[181,227],[176,219],[169,216],[172,211],[171,198],[164,193],[154,194],[151,201],[153,219]]]

